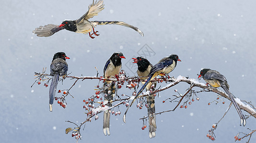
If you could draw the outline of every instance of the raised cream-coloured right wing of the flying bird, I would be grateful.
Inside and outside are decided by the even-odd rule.
[[[89,5],[89,10],[80,18],[78,19],[76,22],[77,23],[81,23],[83,20],[88,20],[90,18],[93,18],[93,16],[98,15],[98,13],[104,9],[104,4],[103,4],[103,0],[99,0],[98,2],[96,1]]]

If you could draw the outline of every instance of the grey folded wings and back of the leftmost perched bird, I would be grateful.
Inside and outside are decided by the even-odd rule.
[[[62,59],[61,59],[62,60]],[[63,60],[64,61],[64,60]],[[51,75],[53,76],[54,74],[59,74],[59,76],[63,76],[67,74],[68,72],[68,64],[66,61],[53,61],[51,64]]]

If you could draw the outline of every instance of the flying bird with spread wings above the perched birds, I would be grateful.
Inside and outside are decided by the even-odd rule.
[[[125,23],[123,21],[89,21],[90,18],[98,15],[98,13],[103,9],[103,0],[99,0],[96,2],[94,2],[93,0],[93,3],[89,5],[89,10],[80,19],[64,20],[60,25],[48,24],[45,26],[40,26],[39,28],[36,28],[33,33],[37,34],[37,36],[39,37],[48,37],[60,30],[66,29],[68,31],[73,31],[76,33],[89,33],[89,36],[93,39],[95,38],[92,36],[93,34],[95,36],[99,36],[99,34],[97,34],[98,31],[94,31],[94,27],[96,27],[97,25],[115,24],[123,25],[128,28],[134,29],[135,31],[138,31],[142,36],[144,36],[143,32],[140,31],[137,27],[129,25],[128,23]],[[90,32],[92,31],[93,33],[91,34]]]

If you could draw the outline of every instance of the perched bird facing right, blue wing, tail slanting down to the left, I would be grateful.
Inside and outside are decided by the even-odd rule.
[[[140,88],[137,95],[134,97],[133,101],[131,102],[130,106],[128,106],[124,116],[123,116],[123,122],[126,123],[126,113],[128,112],[129,107],[133,104],[133,102],[136,100],[136,98],[140,95],[140,93],[144,90],[144,88],[149,84],[149,82],[154,79],[158,75],[165,75],[170,72],[172,72],[176,65],[177,61],[181,61],[176,54],[171,54],[168,57],[164,57],[161,59],[157,64],[155,64],[149,73],[149,78],[147,79],[147,82]]]

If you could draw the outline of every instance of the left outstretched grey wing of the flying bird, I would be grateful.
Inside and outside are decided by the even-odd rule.
[[[39,37],[49,37],[54,33],[63,29],[64,27],[58,27],[58,25],[48,24],[48,25],[40,26],[39,28],[36,28],[35,31],[33,31],[33,33],[35,33]]]

